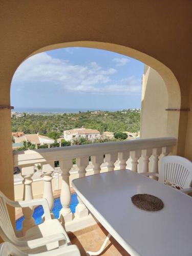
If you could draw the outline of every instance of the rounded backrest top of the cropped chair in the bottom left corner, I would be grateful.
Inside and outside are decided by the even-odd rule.
[[[28,256],[28,253],[25,253],[23,251],[20,251],[15,246],[13,246],[11,243],[5,242],[0,244],[0,256]]]

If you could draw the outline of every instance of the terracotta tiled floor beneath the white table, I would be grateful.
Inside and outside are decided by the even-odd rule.
[[[100,249],[104,239],[108,235],[108,232],[99,225],[95,225],[93,230],[88,232],[70,234],[72,244],[76,244],[80,250],[81,256],[86,256],[86,251],[97,251]],[[106,245],[104,251],[100,254],[103,256],[129,256],[114,238],[110,238],[110,241]]]

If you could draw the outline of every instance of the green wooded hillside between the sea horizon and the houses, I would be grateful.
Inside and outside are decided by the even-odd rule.
[[[87,129],[97,129],[99,132],[138,132],[140,128],[140,110],[122,110],[116,112],[79,112],[72,114],[37,115],[27,114],[20,118],[14,115],[12,132],[25,134],[47,135],[58,139],[63,131],[84,126]]]

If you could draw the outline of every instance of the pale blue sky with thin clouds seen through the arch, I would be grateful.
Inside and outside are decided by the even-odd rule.
[[[71,47],[33,55],[11,83],[14,109],[140,108],[143,63],[110,51]]]

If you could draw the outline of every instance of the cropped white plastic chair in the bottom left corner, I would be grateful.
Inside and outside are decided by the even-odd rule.
[[[5,242],[0,244],[0,256],[80,256],[79,250],[76,245],[70,245],[67,247],[59,247],[57,249],[46,251],[46,252],[39,252],[35,254],[29,254],[24,251],[20,251],[14,245]]]

